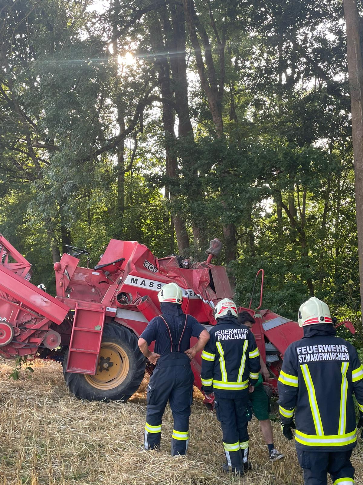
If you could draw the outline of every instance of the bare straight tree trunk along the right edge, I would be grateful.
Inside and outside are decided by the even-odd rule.
[[[343,0],[347,28],[348,74],[352,111],[355,203],[358,230],[359,281],[363,309],[363,57],[361,17],[356,0]]]

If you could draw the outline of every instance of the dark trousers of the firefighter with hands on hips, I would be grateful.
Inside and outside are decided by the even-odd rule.
[[[169,401],[174,419],[171,454],[184,455],[188,449],[189,416],[193,400],[194,374],[189,358],[179,352],[162,356],[150,377],[147,393],[145,449],[160,447],[161,424]]]

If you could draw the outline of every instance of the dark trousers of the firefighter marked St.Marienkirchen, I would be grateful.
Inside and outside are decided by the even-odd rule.
[[[352,450],[339,452],[302,451],[298,460],[304,470],[305,485],[327,485],[328,473],[334,485],[353,485],[354,468],[350,463]]]

